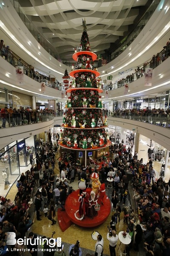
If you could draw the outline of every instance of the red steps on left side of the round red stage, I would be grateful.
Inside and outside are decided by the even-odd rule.
[[[64,232],[73,224],[73,222],[69,219],[66,211],[61,212],[61,209],[59,208],[57,213],[59,227],[62,232]]]

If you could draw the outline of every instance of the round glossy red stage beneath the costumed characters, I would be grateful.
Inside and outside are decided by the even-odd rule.
[[[88,195],[90,195],[92,189],[86,189],[86,192]],[[68,198],[65,201],[65,211],[67,212],[68,218],[74,223],[77,224],[80,227],[96,227],[102,224],[106,219],[108,218],[110,212],[111,212],[111,201],[109,200],[108,196],[105,195],[104,198],[104,205],[100,207],[100,210],[98,211],[98,215],[95,216],[93,219],[85,216],[85,219],[82,221],[77,220],[75,218],[74,213],[79,209],[79,189],[72,192]]]

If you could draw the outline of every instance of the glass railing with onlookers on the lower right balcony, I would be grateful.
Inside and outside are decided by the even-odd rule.
[[[114,118],[123,118],[131,119],[139,122],[147,122],[153,125],[159,125],[164,128],[170,128],[170,113],[161,114],[161,113],[135,113],[135,112],[111,112],[111,117]]]

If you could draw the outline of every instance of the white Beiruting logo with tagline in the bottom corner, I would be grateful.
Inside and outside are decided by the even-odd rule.
[[[7,245],[15,245],[16,243],[18,245],[28,245],[28,244],[31,244],[31,245],[42,245],[42,244],[46,243],[47,245],[49,245],[49,247],[53,248],[53,250],[55,250],[55,251],[58,250],[58,249],[54,249],[56,244],[57,244],[57,247],[61,247],[62,246],[61,237],[57,237],[57,239],[55,239],[55,238],[48,239],[48,238],[42,238],[41,236],[40,237],[37,236],[32,241],[31,238],[26,238],[26,236],[24,236],[24,239],[19,238],[19,239],[16,240],[16,233],[14,233],[14,232],[7,232],[6,244]],[[23,249],[23,250],[25,251],[26,249]],[[37,251],[40,251],[40,250],[45,250],[45,249],[37,249]],[[46,249],[46,250],[48,250],[48,249]],[[52,250],[52,249],[49,249],[49,250]],[[61,249],[59,249],[59,250],[61,250]]]

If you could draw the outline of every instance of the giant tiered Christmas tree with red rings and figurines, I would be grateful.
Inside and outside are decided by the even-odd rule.
[[[94,68],[97,55],[91,52],[85,20],[82,23],[81,42],[73,54],[77,63],[69,74],[73,80],[66,90],[70,96],[65,105],[59,145],[61,158],[72,153],[87,166],[89,157],[96,159],[108,154],[110,141],[105,131],[107,118],[103,121],[102,117],[100,74]]]

